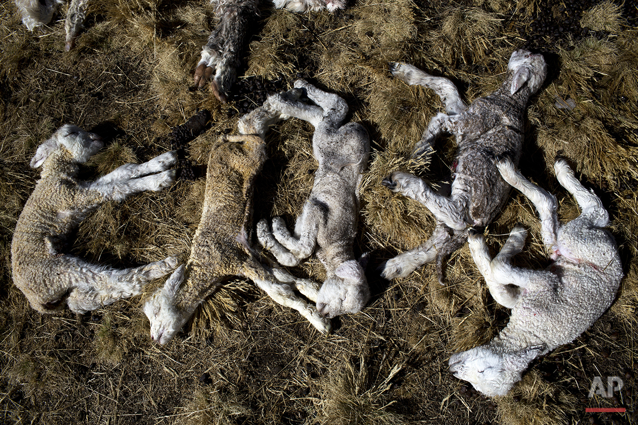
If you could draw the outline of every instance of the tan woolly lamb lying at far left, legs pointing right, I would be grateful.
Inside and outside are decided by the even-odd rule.
[[[140,267],[112,269],[64,253],[70,234],[99,205],[160,190],[175,179],[175,170],[168,168],[177,156],[168,152],[144,164],[122,165],[93,182],[78,180],[78,164],[102,145],[97,135],[66,124],[38,147],[31,160],[31,167],[42,166],[42,174],[18,218],[11,267],[13,282],[41,313],[59,311],[64,303],[85,313],[131,297],[177,265],[177,258],[168,257]]]

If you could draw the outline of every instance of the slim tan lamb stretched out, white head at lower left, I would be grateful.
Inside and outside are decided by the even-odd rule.
[[[239,121],[241,134],[223,136],[212,147],[202,218],[193,237],[191,255],[144,306],[154,341],[168,343],[199,304],[232,276],[249,278],[274,301],[297,309],[323,334],[330,331],[330,320],[295,294],[298,290],[315,301],[318,284],[262,265],[249,245],[246,231],[246,226],[251,226],[253,180],[267,159],[263,137],[271,124],[288,118],[273,107],[274,100],[298,97],[298,91],[269,96],[262,107]]]

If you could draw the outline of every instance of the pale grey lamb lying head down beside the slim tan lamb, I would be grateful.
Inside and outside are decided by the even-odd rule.
[[[297,218],[291,235],[281,218],[257,224],[260,244],[283,265],[297,265],[315,251],[326,269],[317,298],[317,309],[327,317],[357,313],[370,298],[366,275],[367,256],[354,257],[357,234],[359,185],[367,166],[370,140],[359,123],[343,124],[348,113],[345,100],[317,89],[304,80],[295,87],[306,91],[316,105],[282,100],[276,108],[283,114],[308,121],[315,126],[313,154],[319,163],[310,197]]]

